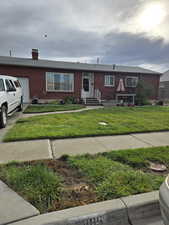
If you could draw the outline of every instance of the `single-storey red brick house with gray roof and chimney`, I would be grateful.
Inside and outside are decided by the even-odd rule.
[[[160,73],[140,67],[71,63],[32,58],[0,57],[0,74],[18,77],[24,101],[64,99],[120,100],[134,103],[139,80],[150,84],[152,100],[158,98]]]

